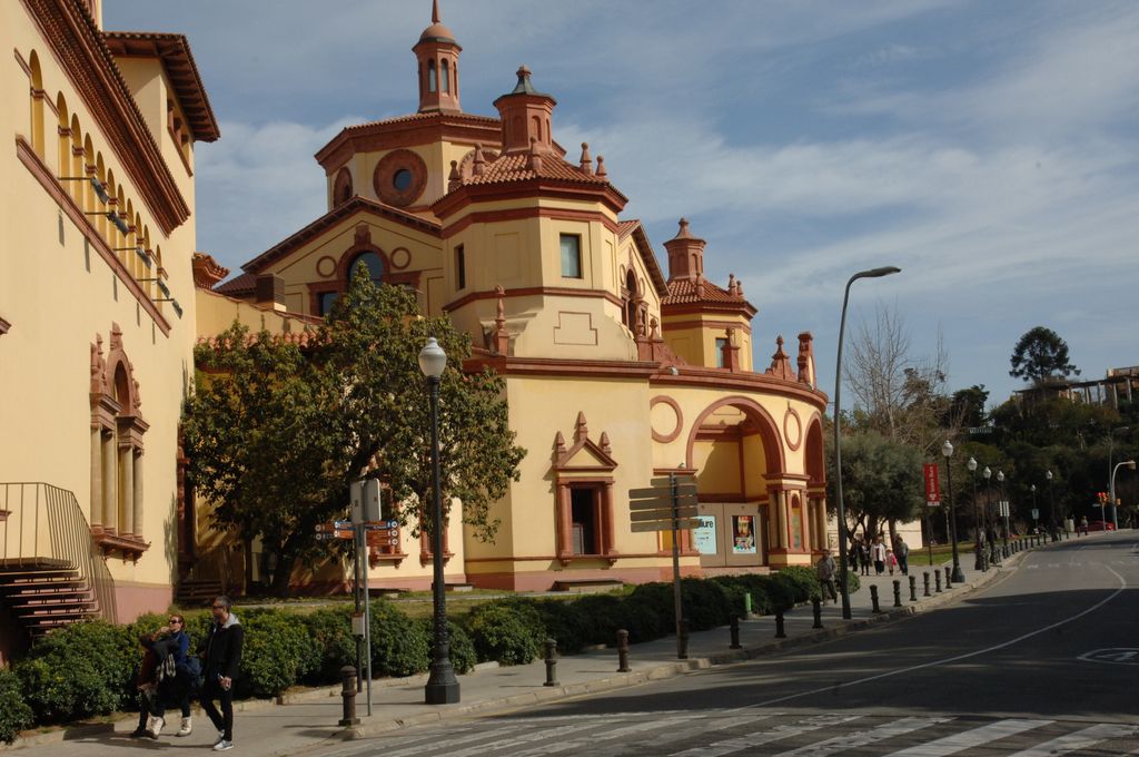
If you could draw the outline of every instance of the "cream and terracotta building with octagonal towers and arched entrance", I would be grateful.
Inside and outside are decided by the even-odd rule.
[[[522,67],[497,116],[460,103],[461,47],[437,7],[412,48],[416,113],[344,129],[317,153],[328,211],[216,287],[321,316],[366,266],[474,337],[468,369],[506,380],[528,450],[491,515],[493,543],[452,524],[449,581],[547,589],[671,575],[671,537],[633,528],[629,490],[695,473],[703,526],[687,573],[805,564],[826,545],[821,415],[810,334],[753,340],[743,285],[704,276],[683,220],[662,270],[600,155],[570,160],[554,97]],[[260,294],[259,294],[260,293]],[[771,350],[751,369],[753,353]],[[466,538],[464,538],[466,536]],[[372,551],[374,586],[426,587],[428,545]],[[296,576],[306,583],[313,576]]]

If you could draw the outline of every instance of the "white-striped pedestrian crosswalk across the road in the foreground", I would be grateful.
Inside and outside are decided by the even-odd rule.
[[[923,731],[929,730],[929,733]],[[1042,730],[1040,733],[1033,731]],[[714,740],[716,734],[728,738]],[[384,757],[546,757],[547,755],[665,755],[723,757],[756,754],[777,744],[776,757],[836,757],[852,750],[874,749],[890,757],[947,757],[1008,739],[1009,757],[1054,757],[1081,750],[1120,754],[1139,739],[1134,723],[1072,723],[1007,718],[993,722],[959,721],[952,715],[887,717],[883,715],[800,715],[762,708],[729,710],[630,711],[604,715],[555,715],[518,719],[481,719],[450,727],[382,736],[378,751],[359,744],[334,752]],[[1120,743],[1106,742],[1120,740]],[[887,742],[892,742],[890,746]],[[372,742],[375,749],[377,742]],[[1112,750],[1114,746],[1115,751]],[[1011,750],[1019,750],[1011,754]],[[894,750],[894,751],[891,751]],[[764,754],[769,754],[764,750]],[[1132,754],[1132,752],[1129,752]],[[1136,751],[1133,754],[1139,754]]]

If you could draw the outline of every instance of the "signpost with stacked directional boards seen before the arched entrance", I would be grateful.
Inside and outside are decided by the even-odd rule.
[[[638,531],[672,531],[672,605],[677,624],[677,657],[687,656],[680,638],[683,611],[680,601],[680,530],[697,528],[696,481],[670,473],[649,481],[653,486],[629,490],[630,528]]]

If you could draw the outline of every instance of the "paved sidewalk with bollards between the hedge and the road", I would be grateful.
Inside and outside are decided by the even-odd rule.
[[[1048,548],[1046,545],[1042,548]],[[331,746],[347,739],[367,738],[410,725],[435,723],[444,719],[466,717],[477,713],[517,709],[567,697],[634,686],[646,681],[679,675],[686,670],[707,668],[771,654],[800,644],[817,643],[821,640],[850,633],[870,624],[884,622],[915,612],[935,609],[959,600],[969,591],[994,580],[1001,573],[1015,568],[1024,552],[1005,561],[997,569],[984,573],[973,570],[972,553],[962,555],[961,568],[966,583],[954,584],[950,591],[932,596],[923,595],[923,571],[932,568],[911,565],[910,573],[917,578],[918,601],[909,599],[909,583],[904,576],[861,577],[862,587],[851,595],[852,619],[843,621],[839,608],[826,604],[822,610],[822,629],[812,628],[811,607],[796,608],[787,613],[785,630],[787,638],[775,638],[775,618],[765,616],[740,624],[740,643],[744,649],[729,649],[728,628],[716,628],[691,634],[687,660],[677,659],[674,636],[637,644],[630,652],[630,673],[616,673],[616,650],[589,652],[558,660],[559,685],[544,686],[546,666],[541,660],[516,667],[480,666],[472,674],[459,676],[461,701],[457,705],[424,705],[426,675],[400,679],[377,681],[372,685],[372,715],[367,716],[364,697],[357,700],[361,724],[353,728],[336,725],[341,717],[339,686],[326,687],[285,698],[282,703],[272,701],[248,701],[236,706],[235,754],[251,757],[294,755],[310,751],[320,746]],[[918,557],[911,553],[912,557]],[[941,568],[944,580],[944,567]],[[903,607],[893,605],[893,579],[900,579]],[[870,605],[870,586],[877,586],[882,612],[875,614]],[[158,741],[129,739],[137,716],[122,719],[114,725],[81,726],[68,731],[56,731],[18,740],[13,747],[0,747],[0,751],[11,749],[21,755],[43,755],[52,757],[88,757],[110,754],[146,754],[155,750],[205,750],[213,743],[216,732],[210,721],[195,711],[194,733],[175,738],[177,709],[171,711],[173,727],[167,725],[167,734]]]

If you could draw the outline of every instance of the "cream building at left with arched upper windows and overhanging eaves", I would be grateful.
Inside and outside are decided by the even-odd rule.
[[[98,0],[0,3],[0,657],[170,603],[197,299],[186,38]]]

